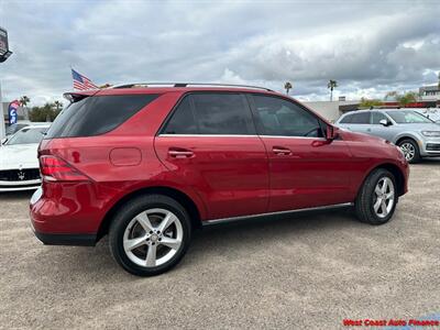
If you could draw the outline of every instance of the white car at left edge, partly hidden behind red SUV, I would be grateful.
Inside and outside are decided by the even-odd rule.
[[[48,125],[21,129],[0,146],[0,191],[33,190],[41,176],[36,151]]]

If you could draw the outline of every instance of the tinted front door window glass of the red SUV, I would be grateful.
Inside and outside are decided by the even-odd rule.
[[[280,98],[260,95],[253,98],[264,134],[322,136],[318,118],[301,107]]]

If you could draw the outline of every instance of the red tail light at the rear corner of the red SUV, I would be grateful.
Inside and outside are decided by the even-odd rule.
[[[90,180],[78,169],[55,156],[41,156],[40,169],[43,178],[48,182],[84,182]]]

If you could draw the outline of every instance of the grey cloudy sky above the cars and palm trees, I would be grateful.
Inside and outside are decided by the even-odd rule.
[[[436,84],[440,1],[11,1],[3,99],[33,105],[96,84],[257,84],[302,100],[383,97]]]

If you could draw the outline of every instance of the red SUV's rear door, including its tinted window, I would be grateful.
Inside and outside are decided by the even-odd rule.
[[[243,95],[185,96],[155,150],[170,175],[201,197],[209,219],[267,211],[267,154]]]

